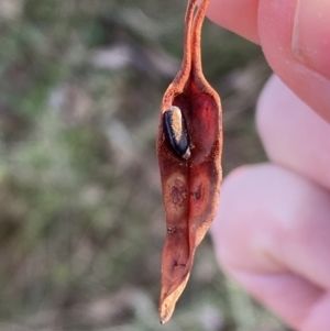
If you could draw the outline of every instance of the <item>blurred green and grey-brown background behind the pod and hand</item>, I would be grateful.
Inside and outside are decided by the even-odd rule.
[[[0,330],[284,331],[200,245],[170,322],[155,133],[184,0],[0,0]],[[238,18],[239,19],[239,18]],[[260,47],[207,21],[224,174],[265,159]]]

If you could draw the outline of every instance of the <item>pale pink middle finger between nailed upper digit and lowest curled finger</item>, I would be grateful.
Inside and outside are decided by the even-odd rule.
[[[276,76],[261,93],[256,122],[272,162],[330,189],[330,124]]]

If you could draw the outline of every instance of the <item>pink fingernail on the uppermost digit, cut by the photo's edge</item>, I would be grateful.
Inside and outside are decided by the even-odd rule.
[[[329,0],[297,0],[292,49],[305,65],[330,78]]]

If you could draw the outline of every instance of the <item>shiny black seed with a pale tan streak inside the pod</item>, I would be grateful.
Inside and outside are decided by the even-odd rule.
[[[189,137],[184,115],[178,107],[173,106],[165,111],[164,124],[173,151],[179,157],[188,159],[190,157]]]

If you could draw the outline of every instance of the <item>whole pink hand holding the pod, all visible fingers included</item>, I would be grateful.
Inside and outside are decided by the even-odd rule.
[[[295,330],[329,330],[330,1],[212,0],[208,16],[261,44],[276,75],[256,113],[270,163],[223,181],[219,263]]]

